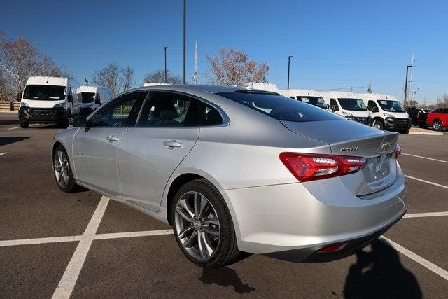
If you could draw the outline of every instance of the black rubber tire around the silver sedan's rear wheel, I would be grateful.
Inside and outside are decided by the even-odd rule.
[[[192,191],[201,193],[207,197],[207,200],[209,200],[211,205],[216,210],[216,216],[218,216],[220,225],[220,242],[216,247],[216,251],[206,260],[199,260],[188,253],[181,243],[178,233],[176,232],[176,221],[174,221],[174,217],[176,216],[176,204],[179,200],[181,200],[183,195]],[[238,250],[235,227],[233,225],[232,216],[230,216],[230,211],[227,204],[225,204],[225,200],[223,199],[221,193],[219,193],[218,189],[216,189],[216,187],[206,179],[196,179],[183,185],[174,196],[171,209],[173,219],[172,225],[176,241],[179,244],[183,254],[196,265],[206,268],[224,267],[225,265],[230,265],[248,256],[248,253],[242,253]]]

